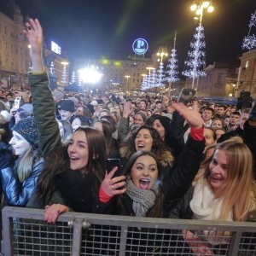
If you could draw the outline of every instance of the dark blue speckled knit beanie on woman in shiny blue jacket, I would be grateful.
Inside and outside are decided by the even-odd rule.
[[[13,127],[13,131],[20,133],[32,145],[32,148],[38,148],[38,125],[34,117],[20,119]]]

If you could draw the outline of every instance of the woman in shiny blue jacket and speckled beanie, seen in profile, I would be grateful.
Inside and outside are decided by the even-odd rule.
[[[34,118],[21,119],[13,127],[13,137],[9,141],[13,154],[1,152],[1,185],[5,201],[9,205],[26,206],[38,183],[38,176],[44,160],[38,150],[38,125]]]

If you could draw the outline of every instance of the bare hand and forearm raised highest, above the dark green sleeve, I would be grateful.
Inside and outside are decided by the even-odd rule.
[[[43,72],[44,65],[42,61],[43,49],[43,30],[38,19],[29,19],[26,22],[26,30],[23,31],[30,44],[30,57],[32,60],[32,70],[34,72]]]

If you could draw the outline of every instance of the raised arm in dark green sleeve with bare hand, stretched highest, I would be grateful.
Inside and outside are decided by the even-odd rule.
[[[43,30],[39,21],[30,19],[24,31],[31,45],[32,73],[28,75],[32,88],[34,115],[38,121],[39,147],[43,155],[61,144],[58,124],[55,120],[55,102],[49,89],[49,79],[44,71],[42,48]]]

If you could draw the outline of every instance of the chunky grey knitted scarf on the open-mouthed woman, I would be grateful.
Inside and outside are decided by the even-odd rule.
[[[154,206],[159,183],[154,183],[152,189],[137,189],[129,176],[126,183],[126,194],[131,197],[132,209],[137,217],[145,217],[148,210]]]

